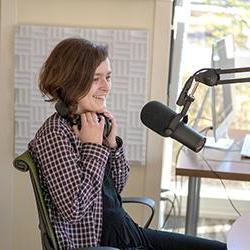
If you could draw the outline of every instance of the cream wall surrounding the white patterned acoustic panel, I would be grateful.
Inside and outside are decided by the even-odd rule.
[[[147,29],[150,32],[149,99],[166,101],[170,0],[0,0],[0,249],[41,249],[29,178],[14,158],[14,28],[19,23]],[[3,35],[4,34],[4,35]],[[157,145],[157,146],[156,146]],[[148,133],[147,166],[131,167],[124,195],[159,201],[163,140]],[[4,191],[3,191],[4,190]],[[145,216],[137,213],[137,217]],[[157,214],[154,225],[157,225]]]

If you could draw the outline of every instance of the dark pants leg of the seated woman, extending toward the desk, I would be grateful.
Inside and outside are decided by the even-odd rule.
[[[143,229],[155,250],[226,250],[225,243],[185,234]]]

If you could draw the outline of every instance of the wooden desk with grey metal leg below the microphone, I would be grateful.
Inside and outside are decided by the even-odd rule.
[[[250,181],[250,159],[242,159],[240,149],[244,136],[250,131],[233,130],[235,139],[229,150],[204,148],[199,153],[184,148],[176,167],[176,175],[188,176],[188,198],[185,233],[196,235],[199,217],[201,178]],[[208,164],[209,166],[208,166]]]

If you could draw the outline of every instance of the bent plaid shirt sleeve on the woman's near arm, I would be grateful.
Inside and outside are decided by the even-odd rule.
[[[37,143],[38,162],[52,200],[62,217],[79,221],[93,207],[102,190],[110,149],[86,143],[80,150],[58,131],[50,131]]]

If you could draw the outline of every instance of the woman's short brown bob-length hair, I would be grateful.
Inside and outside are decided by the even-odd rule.
[[[82,38],[61,41],[51,52],[39,75],[39,88],[48,101],[63,101],[70,112],[90,90],[98,65],[108,57],[106,46]]]

